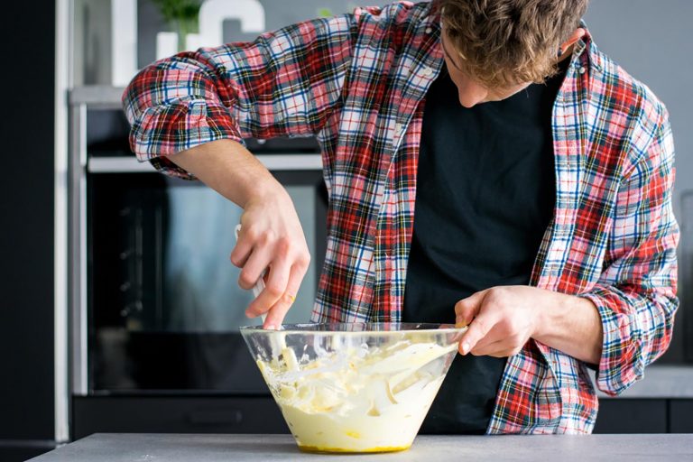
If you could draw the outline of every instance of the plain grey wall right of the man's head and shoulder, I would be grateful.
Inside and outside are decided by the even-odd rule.
[[[679,223],[693,220],[693,210],[688,208],[684,215],[681,207],[682,195],[693,191],[693,60],[688,56],[693,50],[692,17],[690,0],[592,0],[585,16],[596,45],[633,77],[645,82],[669,109],[676,145],[674,211]],[[691,246],[691,241],[690,229],[684,229],[680,249]],[[681,255],[682,267],[690,264],[688,256]],[[691,273],[682,276],[690,278]],[[663,360],[683,356],[684,326],[693,326],[687,319],[693,317],[693,312],[687,310],[687,306],[693,306],[691,282],[679,280],[682,304],[670,351]]]

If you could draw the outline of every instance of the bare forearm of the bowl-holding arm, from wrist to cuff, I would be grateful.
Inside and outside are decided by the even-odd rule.
[[[551,292],[539,306],[535,340],[590,364],[599,364],[604,332],[599,312],[590,300]]]

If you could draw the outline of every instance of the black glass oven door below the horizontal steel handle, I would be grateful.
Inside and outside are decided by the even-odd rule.
[[[312,256],[285,322],[307,322],[325,254],[322,175],[273,173]],[[229,261],[242,210],[156,172],[92,168],[87,180],[88,394],[267,394],[238,332],[260,322],[245,318],[252,294]]]

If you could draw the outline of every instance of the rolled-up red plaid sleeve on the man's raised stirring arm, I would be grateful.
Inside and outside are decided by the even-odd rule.
[[[133,152],[191,179],[166,156],[219,139],[319,132],[341,97],[357,20],[306,21],[153,62],[123,95]]]

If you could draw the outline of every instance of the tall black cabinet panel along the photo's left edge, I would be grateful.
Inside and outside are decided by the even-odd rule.
[[[5,2],[0,181],[0,460],[55,447],[55,4]],[[11,18],[11,19],[10,19]]]

